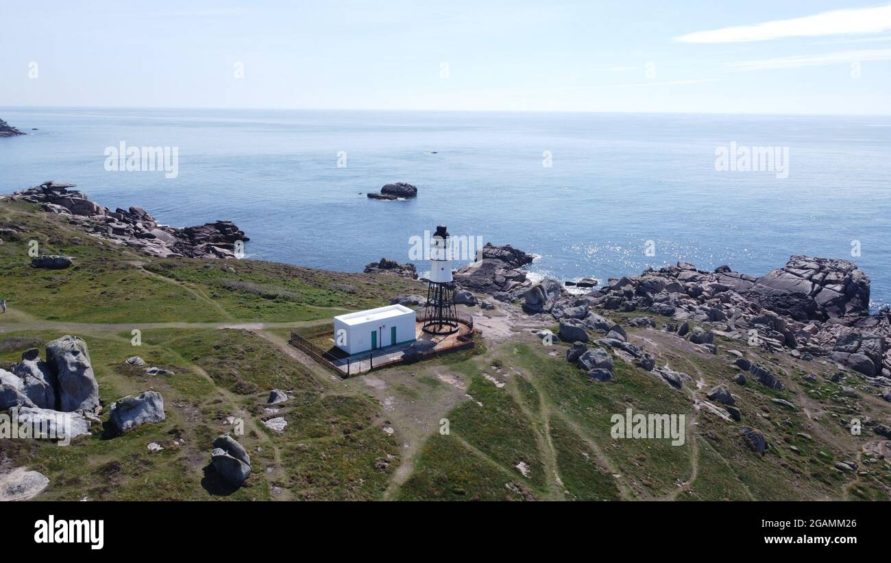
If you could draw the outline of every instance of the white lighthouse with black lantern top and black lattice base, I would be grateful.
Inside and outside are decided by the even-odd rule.
[[[430,241],[430,275],[427,286],[427,305],[424,307],[422,330],[429,334],[451,334],[458,330],[458,315],[454,310],[454,282],[452,281],[452,250],[449,248],[446,225],[437,225]]]

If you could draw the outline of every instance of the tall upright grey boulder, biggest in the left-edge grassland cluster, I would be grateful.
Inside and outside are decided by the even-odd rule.
[[[76,336],[53,340],[46,345],[46,363],[56,374],[60,411],[96,410],[99,406],[99,385],[86,342]]]

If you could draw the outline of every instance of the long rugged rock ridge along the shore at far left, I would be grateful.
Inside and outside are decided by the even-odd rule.
[[[157,257],[236,257],[236,243],[249,238],[231,221],[217,221],[182,229],[158,224],[145,209],[133,206],[114,211],[72,190],[75,184],[54,180],[31,187],[10,196],[12,200],[39,203],[45,211],[69,216],[73,224],[83,226],[88,233],[111,241],[141,249]],[[37,257],[43,260],[55,257]],[[67,267],[52,261],[37,267]],[[61,264],[59,262],[58,264]]]

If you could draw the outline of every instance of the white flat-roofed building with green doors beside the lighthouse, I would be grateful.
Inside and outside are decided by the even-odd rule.
[[[412,342],[415,313],[402,305],[388,305],[334,317],[334,345],[349,355]]]

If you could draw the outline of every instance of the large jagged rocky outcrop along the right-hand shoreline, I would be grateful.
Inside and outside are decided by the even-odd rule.
[[[670,316],[666,330],[678,336],[691,330],[691,322],[707,323],[751,346],[805,359],[830,355],[864,375],[891,377],[891,311],[869,313],[870,279],[846,260],[793,256],[760,277],[733,272],[728,265],[706,272],[678,262],[610,279],[585,297],[605,309]],[[710,331],[698,329],[688,338],[715,353]]]

